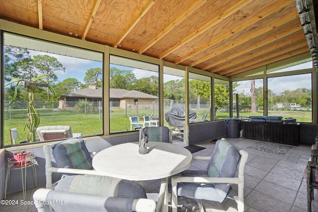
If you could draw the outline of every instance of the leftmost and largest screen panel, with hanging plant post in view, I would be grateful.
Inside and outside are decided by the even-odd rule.
[[[1,147],[39,141],[37,133],[28,129],[32,120],[37,119],[40,122],[35,127],[66,125],[83,137],[103,134],[103,119],[99,115],[102,108],[96,104],[102,101],[102,53],[6,32],[2,38],[1,83],[5,86],[1,99]],[[41,83],[17,85],[13,83],[15,78]],[[97,83],[94,89],[88,87],[92,82]],[[30,94],[32,100],[28,98]],[[34,105],[32,112],[28,111],[29,105]],[[13,128],[18,133],[14,141],[10,139]],[[30,133],[34,132],[33,138]]]

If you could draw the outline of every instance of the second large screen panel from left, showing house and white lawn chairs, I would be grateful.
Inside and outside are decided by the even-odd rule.
[[[144,116],[159,114],[158,100],[159,65],[110,55],[110,133],[143,127]],[[139,124],[131,124],[130,117],[138,117]]]

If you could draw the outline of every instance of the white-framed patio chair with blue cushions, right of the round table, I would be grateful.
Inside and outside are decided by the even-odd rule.
[[[238,149],[226,139],[216,142],[211,157],[193,157],[193,159],[209,159],[207,170],[185,170],[171,178],[172,212],[177,211],[177,197],[187,197],[222,203],[226,197],[233,198],[238,204],[238,211],[244,211],[244,167],[248,153]],[[239,162],[240,160],[240,162]],[[238,177],[235,177],[239,165]],[[238,185],[238,195],[230,185]]]

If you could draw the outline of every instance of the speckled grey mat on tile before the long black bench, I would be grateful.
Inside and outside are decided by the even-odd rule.
[[[258,141],[251,146],[247,146],[246,148],[273,154],[285,155],[292,147],[280,143]]]

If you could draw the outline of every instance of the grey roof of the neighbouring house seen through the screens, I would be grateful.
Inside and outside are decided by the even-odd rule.
[[[86,87],[77,91],[73,91],[61,97],[89,97],[89,98],[101,98],[102,88],[96,87],[95,89]],[[143,93],[137,90],[125,90],[125,89],[109,89],[109,98],[122,99],[122,98],[133,98],[133,99],[158,99],[157,96]]]

